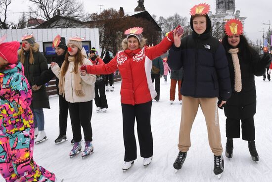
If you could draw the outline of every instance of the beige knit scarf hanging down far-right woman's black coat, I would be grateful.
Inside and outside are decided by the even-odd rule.
[[[238,58],[238,54],[237,54],[238,52],[239,52],[239,48],[228,50],[228,53],[231,54],[233,67],[234,67],[234,90],[236,92],[241,92],[241,90],[242,90],[242,77],[241,77],[239,58]]]

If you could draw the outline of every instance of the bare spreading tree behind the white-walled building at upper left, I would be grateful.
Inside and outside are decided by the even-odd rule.
[[[67,18],[67,21],[61,20],[54,22],[53,25],[47,25],[47,28],[63,27],[68,28],[73,20],[86,20],[83,2],[75,0],[29,0],[33,5],[29,6],[36,19],[49,20],[56,15]]]

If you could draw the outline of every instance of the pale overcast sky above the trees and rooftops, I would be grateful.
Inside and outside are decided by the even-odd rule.
[[[76,1],[76,0],[75,0]],[[149,14],[155,14],[157,19],[159,16],[164,18],[174,15],[176,12],[181,16],[190,17],[190,8],[198,3],[209,3],[211,5],[211,11],[215,13],[216,0],[144,0],[145,9]],[[263,28],[268,31],[269,26],[262,23],[272,23],[272,1],[271,0],[235,0],[235,11],[240,10],[242,17],[247,17],[245,20],[244,31],[248,37],[254,41],[256,38],[263,36]],[[8,12],[22,12],[28,11],[28,0],[12,0],[8,8]],[[137,0],[84,0],[85,10],[88,13],[100,12],[100,6],[102,10],[107,8],[114,8],[119,10],[120,6],[124,8],[126,12],[133,12],[138,5]],[[18,21],[20,14],[9,14],[9,21]],[[272,29],[272,25],[270,26]]]

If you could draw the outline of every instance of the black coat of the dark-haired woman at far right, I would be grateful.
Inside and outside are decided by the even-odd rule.
[[[256,87],[254,77],[262,76],[265,73],[266,63],[263,63],[258,53],[252,50],[252,56],[249,54],[238,53],[242,90],[234,90],[234,67],[231,54],[227,52],[227,61],[230,75],[232,93],[224,107],[225,115],[233,119],[246,119],[256,113]]]

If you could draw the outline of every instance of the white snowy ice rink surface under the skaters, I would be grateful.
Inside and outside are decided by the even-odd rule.
[[[256,147],[260,161],[251,160],[246,141],[234,139],[233,158],[225,156],[226,132],[224,111],[219,109],[222,145],[224,147],[225,171],[220,182],[271,182],[272,179],[272,82],[256,77],[257,113],[255,114]],[[151,128],[154,154],[152,163],[144,167],[137,143],[135,165],[126,172],[121,169],[124,160],[120,86],[107,92],[109,108],[106,113],[96,113],[93,101],[91,125],[94,153],[82,159],[80,155],[70,159],[72,129],[67,126],[68,141],[55,145],[59,134],[58,97],[50,98],[51,109],[45,111],[45,132],[48,140],[35,145],[34,159],[37,164],[54,172],[64,182],[218,182],[213,173],[213,153],[208,144],[203,113],[199,108],[191,131],[191,144],[182,169],[175,174],[173,162],[179,152],[178,136],[181,105],[177,99],[169,104],[170,75],[168,82],[161,79],[159,102],[153,102]],[[135,130],[136,131],[136,130]],[[82,132],[83,135],[83,132]],[[84,138],[84,137],[83,137]],[[136,137],[137,138],[137,137]],[[84,143],[82,143],[84,146]],[[0,179],[2,182],[3,180]]]

